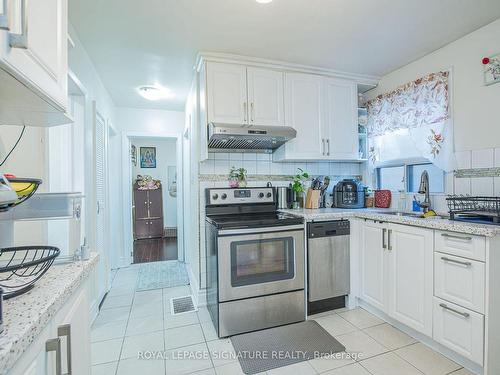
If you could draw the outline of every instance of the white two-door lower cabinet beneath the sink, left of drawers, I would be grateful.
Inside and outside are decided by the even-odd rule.
[[[361,247],[361,299],[432,336],[433,231],[366,222]]]

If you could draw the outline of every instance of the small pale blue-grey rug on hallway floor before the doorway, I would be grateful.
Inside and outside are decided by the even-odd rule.
[[[186,265],[177,260],[167,260],[141,264],[135,290],[140,292],[188,284]]]

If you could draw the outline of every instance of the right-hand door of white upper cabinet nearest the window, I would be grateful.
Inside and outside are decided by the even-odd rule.
[[[359,159],[356,83],[325,79],[326,154],[333,160]]]

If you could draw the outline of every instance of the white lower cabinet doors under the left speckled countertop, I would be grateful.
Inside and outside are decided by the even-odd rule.
[[[88,280],[47,324],[9,375],[90,375]]]

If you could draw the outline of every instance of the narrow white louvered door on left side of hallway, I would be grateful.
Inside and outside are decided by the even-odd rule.
[[[106,246],[106,122],[95,112],[95,247],[100,254],[98,301],[108,290],[109,254]]]

